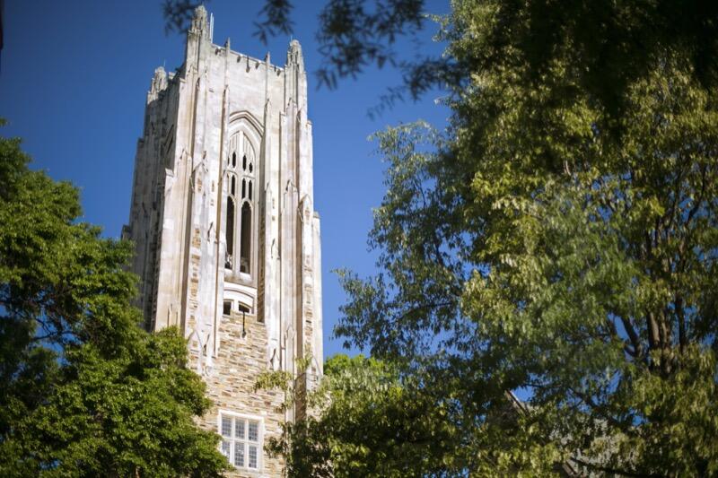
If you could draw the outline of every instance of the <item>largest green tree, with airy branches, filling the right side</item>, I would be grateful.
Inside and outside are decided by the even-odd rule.
[[[449,128],[377,135],[380,273],[336,332],[441,391],[468,473],[718,473],[715,39],[672,36],[715,16],[599,4],[454,2]]]

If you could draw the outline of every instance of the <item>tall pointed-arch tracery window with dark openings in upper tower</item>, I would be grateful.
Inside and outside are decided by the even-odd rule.
[[[232,136],[227,156],[227,206],[224,266],[232,272],[252,274],[253,215],[255,208],[255,152],[249,138]]]

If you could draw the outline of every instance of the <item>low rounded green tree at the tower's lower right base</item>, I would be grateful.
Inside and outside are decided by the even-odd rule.
[[[289,476],[427,476],[452,467],[456,447],[446,411],[412,377],[362,355],[335,355],[324,371],[309,395],[309,416],[269,440],[269,451],[286,457]],[[259,381],[272,386],[293,395],[281,372]]]

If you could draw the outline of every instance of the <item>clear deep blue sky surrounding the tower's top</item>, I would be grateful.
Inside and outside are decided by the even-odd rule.
[[[320,65],[314,34],[321,0],[293,2],[293,37],[302,43],[309,72]],[[263,58],[269,51],[283,65],[289,38],[262,45],[252,36],[260,0],[212,0],[214,41],[232,39],[232,49]],[[428,2],[429,13],[445,13],[448,0]],[[435,30],[427,23],[419,41],[403,41],[399,56],[440,53]],[[144,97],[154,68],[179,66],[184,35],[164,34],[161,0],[25,1],[6,0],[4,48],[0,64],[0,117],[9,121],[2,134],[21,136],[33,167],[80,187],[84,221],[118,237],[127,222],[136,140],[142,130]],[[337,90],[316,89],[309,77],[309,117],[314,131],[315,207],[321,215],[325,356],[342,352],[332,328],[344,292],[331,271],[348,267],[373,272],[367,232],[372,207],[384,193],[381,157],[367,141],[387,125],[422,118],[442,126],[446,109],[437,95],[418,103],[398,104],[371,119],[367,109],[390,86],[400,83],[390,69],[372,69]]]

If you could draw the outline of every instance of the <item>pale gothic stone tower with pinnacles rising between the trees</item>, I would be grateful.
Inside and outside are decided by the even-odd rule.
[[[256,378],[283,369],[301,391],[322,372],[307,77],[296,40],[282,68],[214,45],[211,31],[200,6],[184,65],[154,72],[123,236],[146,327],[187,338],[214,402],[201,423],[222,435],[233,475],[277,476],[263,443],[305,405],[279,411],[285,396],[256,391]]]

